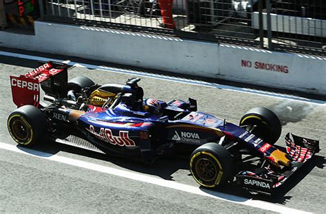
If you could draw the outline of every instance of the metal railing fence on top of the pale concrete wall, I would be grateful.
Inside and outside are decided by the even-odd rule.
[[[325,0],[173,0],[173,21],[169,1],[39,0],[51,21],[326,56]]]

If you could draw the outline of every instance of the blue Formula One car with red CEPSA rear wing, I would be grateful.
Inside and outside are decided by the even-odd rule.
[[[29,147],[55,142],[153,162],[185,154],[202,186],[234,182],[254,193],[272,194],[319,151],[319,142],[287,133],[286,151],[274,147],[279,118],[264,107],[248,111],[239,125],[197,111],[196,100],[143,99],[140,78],[125,85],[96,85],[80,76],[67,82],[67,67],[48,62],[10,76],[14,103],[8,118],[12,138]],[[45,96],[40,100],[40,90]],[[245,162],[258,160],[248,166]]]

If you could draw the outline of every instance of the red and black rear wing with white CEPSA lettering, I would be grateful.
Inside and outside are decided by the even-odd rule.
[[[12,100],[17,107],[39,107],[40,87],[45,94],[64,97],[67,94],[67,65],[49,61],[21,76],[10,76]]]

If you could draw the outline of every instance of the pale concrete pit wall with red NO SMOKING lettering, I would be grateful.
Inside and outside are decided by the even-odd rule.
[[[0,32],[0,46],[326,94],[318,56],[41,21],[35,35]]]

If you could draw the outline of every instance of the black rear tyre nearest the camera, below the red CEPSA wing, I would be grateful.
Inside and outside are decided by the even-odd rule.
[[[41,143],[47,131],[44,114],[33,105],[24,105],[12,111],[7,127],[14,141],[25,147]]]

